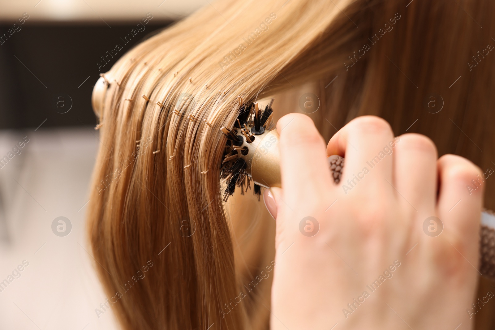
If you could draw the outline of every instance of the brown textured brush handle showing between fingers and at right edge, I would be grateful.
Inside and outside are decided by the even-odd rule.
[[[344,157],[332,155],[328,157],[328,164],[334,181],[338,184],[344,169]],[[490,210],[481,213],[479,272],[495,280],[495,213]]]

